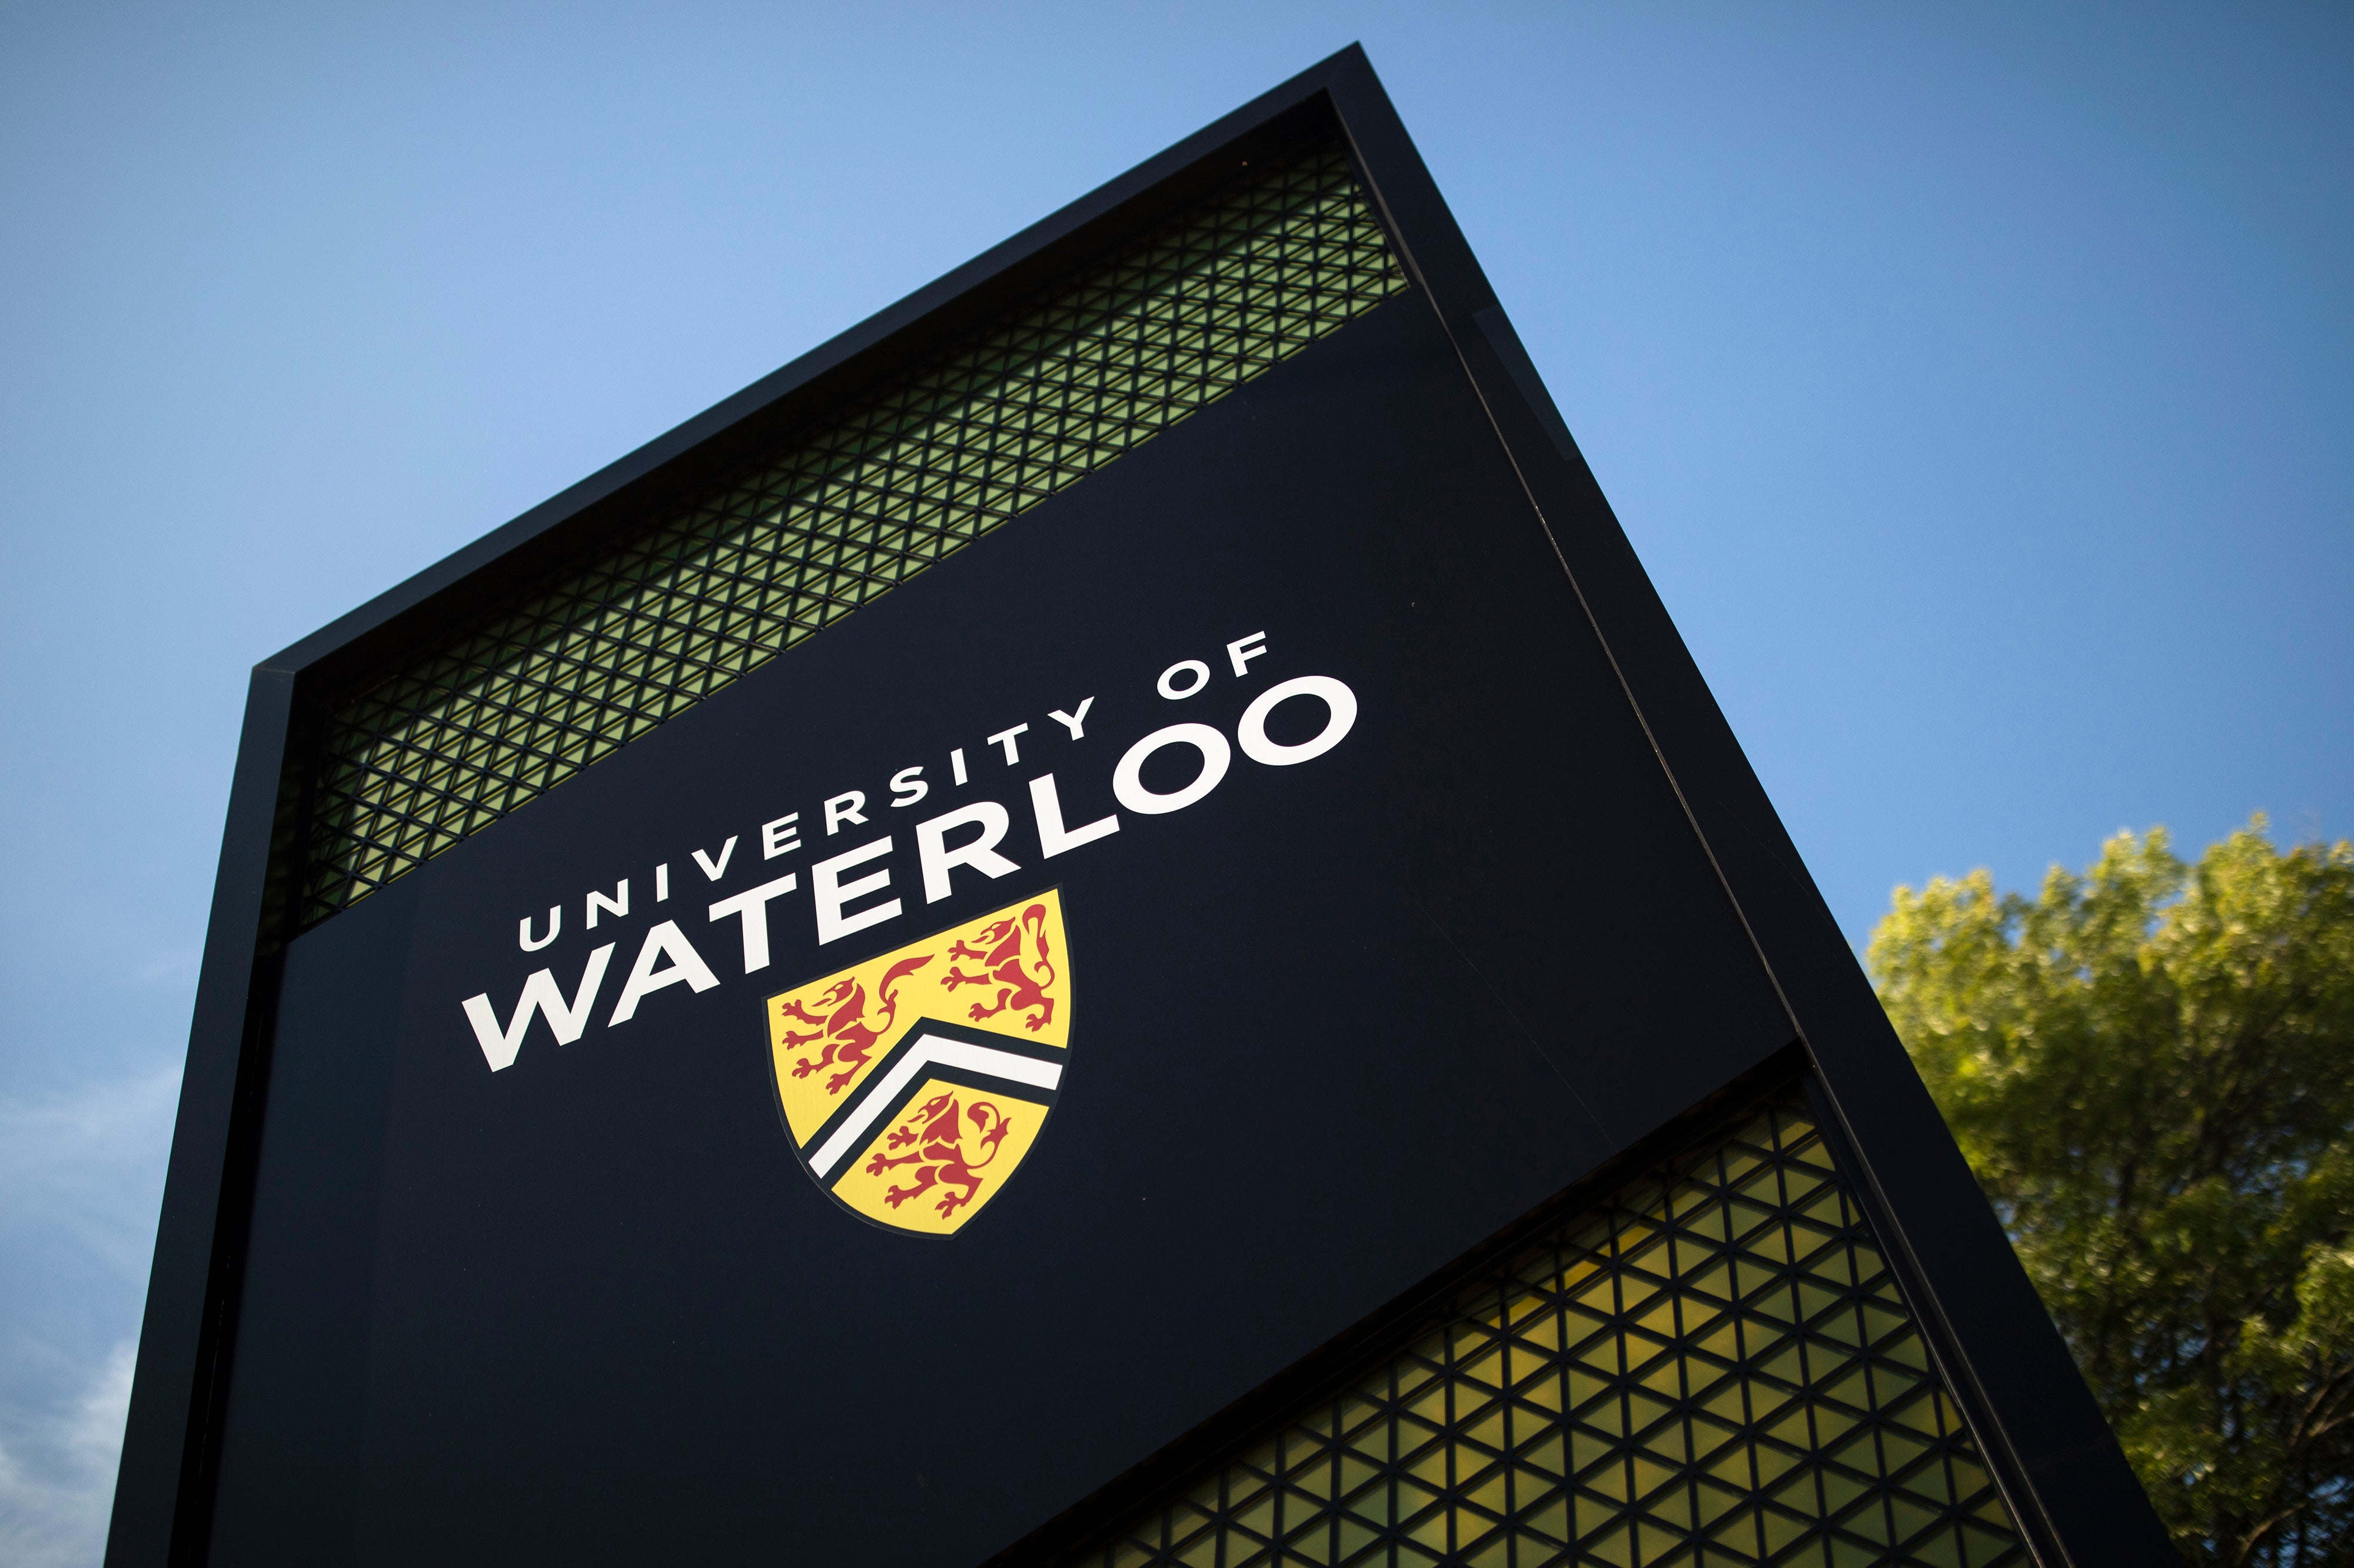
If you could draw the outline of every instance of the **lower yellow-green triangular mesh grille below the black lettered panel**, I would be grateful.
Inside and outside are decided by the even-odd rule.
[[[2032,1559],[1791,1097],[1577,1217],[1083,1561]]]

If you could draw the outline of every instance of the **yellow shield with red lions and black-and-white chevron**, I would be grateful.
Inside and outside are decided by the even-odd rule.
[[[1005,1189],[1062,1090],[1062,897],[770,996],[767,1048],[810,1177],[876,1224],[953,1236]]]

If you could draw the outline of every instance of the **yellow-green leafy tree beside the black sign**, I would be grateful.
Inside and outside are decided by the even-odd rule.
[[[2185,1554],[2354,1563],[2354,848],[2119,833],[1869,965]]]

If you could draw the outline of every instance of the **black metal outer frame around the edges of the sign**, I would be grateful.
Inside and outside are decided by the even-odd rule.
[[[273,829],[287,760],[315,716],[438,626],[643,520],[814,410],[1151,224],[1252,148],[1288,141],[1304,118],[1323,115],[1339,122],[1401,261],[1462,356],[1782,996],[1838,1154],[1874,1208],[2036,1554],[2053,1566],[2170,1561],[2156,1514],[2067,1347],[1372,66],[1351,45],[254,669],[165,1177],[111,1568],[205,1559],[275,1008],[264,916],[273,864],[282,869],[290,845],[275,845],[273,862]]]

